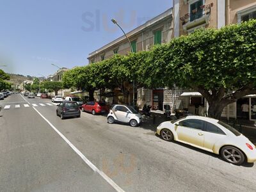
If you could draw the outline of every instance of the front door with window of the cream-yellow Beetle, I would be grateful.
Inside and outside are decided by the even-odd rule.
[[[204,121],[198,119],[185,119],[175,127],[178,140],[198,147],[204,147]]]

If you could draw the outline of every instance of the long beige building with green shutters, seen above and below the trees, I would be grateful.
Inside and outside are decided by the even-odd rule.
[[[173,38],[173,14],[172,8],[164,13],[161,13],[157,17],[145,22],[145,24],[133,29],[127,33],[129,40],[131,41],[132,51],[149,51],[150,47],[156,44],[164,44],[170,42]],[[131,52],[131,47],[127,38],[121,36],[113,42],[104,45],[100,49],[93,51],[89,54],[89,63],[95,63],[102,60],[111,58],[114,54],[127,55]],[[148,90],[140,88],[135,91],[135,99],[137,105],[142,108],[143,104],[150,104],[154,109],[163,110],[164,102],[172,104],[169,91],[164,88],[157,90]],[[164,101],[165,99],[165,101]],[[132,92],[129,95],[129,102],[132,102]]]

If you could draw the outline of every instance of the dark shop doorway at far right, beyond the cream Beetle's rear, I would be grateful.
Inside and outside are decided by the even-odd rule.
[[[236,102],[237,118],[249,120],[249,99],[241,98]]]

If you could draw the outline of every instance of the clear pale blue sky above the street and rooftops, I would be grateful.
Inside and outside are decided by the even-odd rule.
[[[0,65],[25,76],[87,65],[88,54],[172,7],[172,0],[0,0]]]

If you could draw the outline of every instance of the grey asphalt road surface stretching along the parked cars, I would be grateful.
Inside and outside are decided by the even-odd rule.
[[[0,102],[10,106],[0,112],[0,191],[256,189],[255,164],[234,166],[215,154],[163,141],[147,126],[107,124],[101,115],[61,120],[51,100],[26,100],[11,95]]]

